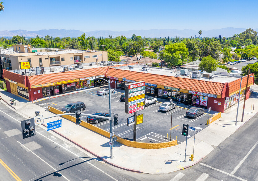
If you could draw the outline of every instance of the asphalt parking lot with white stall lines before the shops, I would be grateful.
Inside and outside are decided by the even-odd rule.
[[[59,97],[39,101],[35,104],[48,109],[51,106],[60,110],[68,103],[82,101],[86,104],[86,109],[82,113],[93,114],[95,112],[109,113],[109,99],[107,95],[98,95],[98,88],[92,88],[87,91],[77,92],[70,95],[63,95]],[[119,90],[120,91],[120,90]],[[120,91],[122,92],[122,91]],[[124,139],[133,140],[133,125],[127,126],[127,118],[133,114],[125,113],[125,103],[120,101],[121,93],[115,91],[111,94],[111,104],[112,104],[112,115],[118,114],[119,123],[114,126],[112,125],[112,131],[115,135],[122,137]],[[166,100],[163,100],[165,102]],[[174,102],[175,103],[175,102]],[[207,119],[208,114],[199,116],[197,119],[185,116],[186,109],[179,108],[180,104],[177,104],[176,109],[173,109],[172,126],[171,126],[171,111],[163,112],[159,111],[159,106],[161,103],[150,104],[145,107],[144,110],[138,111],[137,114],[143,114],[143,123],[137,125],[137,141],[145,143],[162,143],[170,141],[170,129],[172,127],[171,140],[176,139],[178,143],[185,141],[185,136],[182,136],[182,125],[188,124],[191,127],[196,128],[196,133],[205,129],[208,125]],[[182,104],[181,104],[182,105]],[[191,107],[191,106],[190,106]],[[188,108],[190,108],[188,107]],[[211,117],[211,115],[210,115]],[[87,116],[82,116],[83,121],[86,120]],[[112,118],[113,119],[113,118]],[[109,132],[109,121],[99,122],[93,124],[105,131]],[[167,138],[168,134],[168,138]],[[194,131],[189,129],[188,138],[194,136]]]

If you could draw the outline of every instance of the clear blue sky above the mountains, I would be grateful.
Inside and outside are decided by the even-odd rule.
[[[2,0],[0,30],[258,28],[257,0]]]

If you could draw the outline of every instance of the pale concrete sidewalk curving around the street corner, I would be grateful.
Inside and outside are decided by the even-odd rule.
[[[57,128],[54,131],[62,137],[82,147],[84,150],[91,152],[92,155],[99,157],[104,162],[113,166],[142,173],[169,173],[182,168],[187,168],[199,162],[227,137],[233,134],[246,121],[251,119],[252,116],[258,112],[256,107],[255,112],[251,110],[251,105],[258,105],[256,93],[257,87],[258,86],[255,86],[255,88],[253,88],[254,96],[252,96],[252,98],[250,97],[246,101],[243,123],[241,123],[243,110],[242,102],[239,104],[237,126],[235,126],[235,115],[237,111],[237,106],[235,106],[226,111],[226,113],[222,113],[222,117],[220,119],[211,123],[209,127],[196,134],[194,161],[191,161],[189,158],[193,152],[194,141],[194,131],[191,130],[189,130],[189,135],[191,138],[189,138],[187,141],[186,162],[184,162],[185,142],[173,147],[162,149],[132,148],[115,142],[113,147],[114,158],[110,159],[110,146],[108,144],[109,138],[87,130],[86,128],[76,125],[75,123],[64,118],[62,118],[62,127]],[[21,115],[23,114],[33,118],[35,116],[35,111],[40,111],[40,115],[42,114],[44,117],[53,115],[53,113],[45,110],[44,108],[37,106],[32,102],[27,102],[26,100],[10,94],[9,92],[0,91],[0,95],[2,96],[2,99],[9,104],[11,103],[11,98],[14,98],[16,106],[13,107],[15,110],[19,111]],[[49,121],[54,120],[57,120],[57,118],[49,119]],[[48,120],[45,119],[44,123],[46,124],[47,122]],[[46,129],[45,127],[43,128]]]

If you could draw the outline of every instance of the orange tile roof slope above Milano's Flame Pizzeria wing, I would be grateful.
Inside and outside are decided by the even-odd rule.
[[[135,65],[136,63],[129,63],[129,64],[119,64],[114,65],[112,67],[119,67],[119,66],[128,66],[128,65]],[[40,74],[40,75],[32,75],[28,76],[29,82],[31,86],[52,83],[52,82],[60,82],[65,80],[73,80],[78,78],[84,77],[92,77],[97,75],[104,75],[106,74],[108,68],[110,66],[98,67],[98,68],[91,68],[91,69],[80,69],[80,70],[72,70],[67,72],[57,72],[52,74]]]

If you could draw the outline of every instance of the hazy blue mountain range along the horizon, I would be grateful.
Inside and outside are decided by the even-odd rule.
[[[221,28],[221,29],[215,29],[215,30],[202,30],[201,37],[218,37],[221,35],[222,37],[231,37],[234,34],[242,33],[246,28]],[[258,31],[258,29],[254,29]],[[12,37],[15,35],[23,35],[26,38],[36,37],[37,35],[39,37],[45,37],[46,35],[52,36],[52,37],[78,37],[82,34],[86,34],[87,36],[95,36],[95,37],[104,37],[107,38],[108,35],[112,35],[112,37],[121,36],[123,34],[126,37],[131,37],[133,34],[136,34],[136,36],[142,36],[146,38],[164,38],[164,37],[175,37],[180,36],[184,38],[189,37],[199,37],[199,30],[177,30],[177,29],[152,29],[152,30],[128,30],[128,31],[110,31],[110,30],[96,30],[96,31],[89,31],[89,32],[83,32],[80,30],[65,30],[65,29],[50,29],[50,30],[38,30],[38,31],[27,31],[27,30],[4,30],[0,31],[0,37]]]

